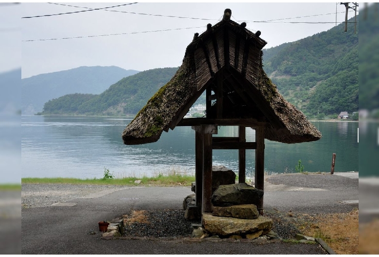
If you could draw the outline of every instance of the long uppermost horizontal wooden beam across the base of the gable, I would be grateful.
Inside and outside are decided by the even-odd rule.
[[[265,126],[265,122],[259,122],[257,119],[208,119],[208,118],[187,118],[182,119],[176,126],[200,126],[214,124],[217,126],[245,126],[260,127]]]

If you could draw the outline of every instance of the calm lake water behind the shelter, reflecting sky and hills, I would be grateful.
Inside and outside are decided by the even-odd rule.
[[[117,177],[152,176],[169,170],[194,173],[195,133],[176,127],[151,144],[123,145],[121,132],[130,119],[113,117],[21,116],[22,177],[101,178],[104,167]],[[313,122],[323,137],[301,144],[265,140],[265,169],[295,172],[301,159],[305,171],[358,171],[357,122]],[[221,127],[217,136],[238,136],[238,127]],[[246,140],[255,131],[246,128]],[[254,175],[254,150],[246,150],[246,177]],[[214,150],[213,164],[238,172],[238,150]]]

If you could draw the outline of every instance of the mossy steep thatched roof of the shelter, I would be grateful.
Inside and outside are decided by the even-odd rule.
[[[291,144],[320,139],[321,133],[279,94],[263,71],[261,49],[267,43],[260,32],[250,32],[245,26],[226,17],[213,27],[208,24],[201,35],[196,33],[176,74],[122,132],[124,144],[157,141],[163,130],[168,132],[181,122],[207,87],[217,92],[220,80],[221,118],[255,121],[244,123],[247,127],[264,124],[265,138],[272,141]],[[216,118],[216,106],[204,120]]]

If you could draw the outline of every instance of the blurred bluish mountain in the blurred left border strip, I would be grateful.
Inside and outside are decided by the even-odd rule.
[[[16,114],[21,109],[21,68],[0,73],[0,112]]]

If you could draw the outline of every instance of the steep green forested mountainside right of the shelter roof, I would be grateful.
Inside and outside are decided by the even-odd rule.
[[[358,24],[344,26],[263,50],[267,75],[308,117],[358,111]]]

